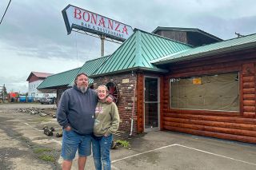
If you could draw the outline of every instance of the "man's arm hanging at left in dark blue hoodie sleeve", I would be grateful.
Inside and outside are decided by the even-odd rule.
[[[68,94],[64,92],[59,101],[58,109],[57,109],[57,121],[58,121],[58,124],[61,125],[63,128],[70,126],[70,123],[67,120],[68,105],[69,105],[69,97],[68,97]]]

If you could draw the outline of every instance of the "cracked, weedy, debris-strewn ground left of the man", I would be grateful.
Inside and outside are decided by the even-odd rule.
[[[58,164],[61,138],[46,136],[42,130],[47,125],[61,131],[56,119],[51,117],[55,112],[54,105],[0,105],[1,170],[61,169]]]

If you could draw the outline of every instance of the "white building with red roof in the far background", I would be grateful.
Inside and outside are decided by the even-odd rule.
[[[46,79],[46,77],[53,75],[52,73],[31,72],[26,81],[29,82],[28,97],[33,97],[39,100],[41,97],[56,97],[56,91],[49,90],[41,92],[37,89],[38,85]]]

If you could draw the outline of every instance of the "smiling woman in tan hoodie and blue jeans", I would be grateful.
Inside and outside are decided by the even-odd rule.
[[[106,85],[99,85],[98,104],[95,109],[93,154],[96,170],[110,170],[110,145],[112,134],[118,130],[118,107],[114,102],[106,104],[108,89]]]

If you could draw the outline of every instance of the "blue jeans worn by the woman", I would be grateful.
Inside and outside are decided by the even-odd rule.
[[[110,136],[93,138],[94,165],[96,170],[110,170],[110,146],[112,143],[112,134]]]

